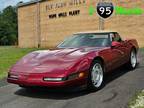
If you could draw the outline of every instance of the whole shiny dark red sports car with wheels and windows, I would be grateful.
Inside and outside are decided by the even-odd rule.
[[[87,87],[100,89],[104,74],[122,65],[137,66],[138,43],[117,32],[76,33],[54,50],[34,51],[8,73],[8,82],[21,87]]]

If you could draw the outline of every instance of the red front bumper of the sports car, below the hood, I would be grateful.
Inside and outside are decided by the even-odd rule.
[[[87,78],[76,78],[65,81],[44,81],[44,75],[21,75],[18,78],[8,77],[9,83],[18,84],[22,86],[41,86],[41,87],[73,87],[87,84]]]

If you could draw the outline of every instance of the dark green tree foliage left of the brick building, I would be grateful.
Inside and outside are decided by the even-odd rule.
[[[18,38],[17,11],[8,6],[0,12],[0,45],[15,45]]]

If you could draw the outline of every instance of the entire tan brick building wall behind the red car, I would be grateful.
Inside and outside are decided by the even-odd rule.
[[[91,0],[77,5],[66,5],[55,7],[60,3],[69,4],[71,0],[50,0],[40,2],[40,17],[38,18],[37,4],[31,4],[18,8],[19,21],[19,46],[20,47],[54,47],[65,37],[75,32],[93,31],[99,28],[99,17],[97,14],[89,15],[88,8]],[[99,0],[92,0],[93,6]],[[83,0],[81,0],[83,2]],[[143,0],[113,0],[115,5],[124,7],[139,6],[144,8]],[[55,8],[50,8],[54,5]],[[49,15],[62,12],[80,10],[78,15],[67,15],[66,17],[49,18]],[[123,38],[136,38],[141,47],[144,47],[144,15],[123,16],[113,15],[105,20],[105,29],[120,32]],[[40,27],[38,21],[40,19]],[[39,39],[40,37],[40,39]]]

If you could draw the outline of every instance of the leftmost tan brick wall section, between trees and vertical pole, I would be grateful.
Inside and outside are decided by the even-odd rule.
[[[37,47],[36,5],[18,9],[19,47]]]

